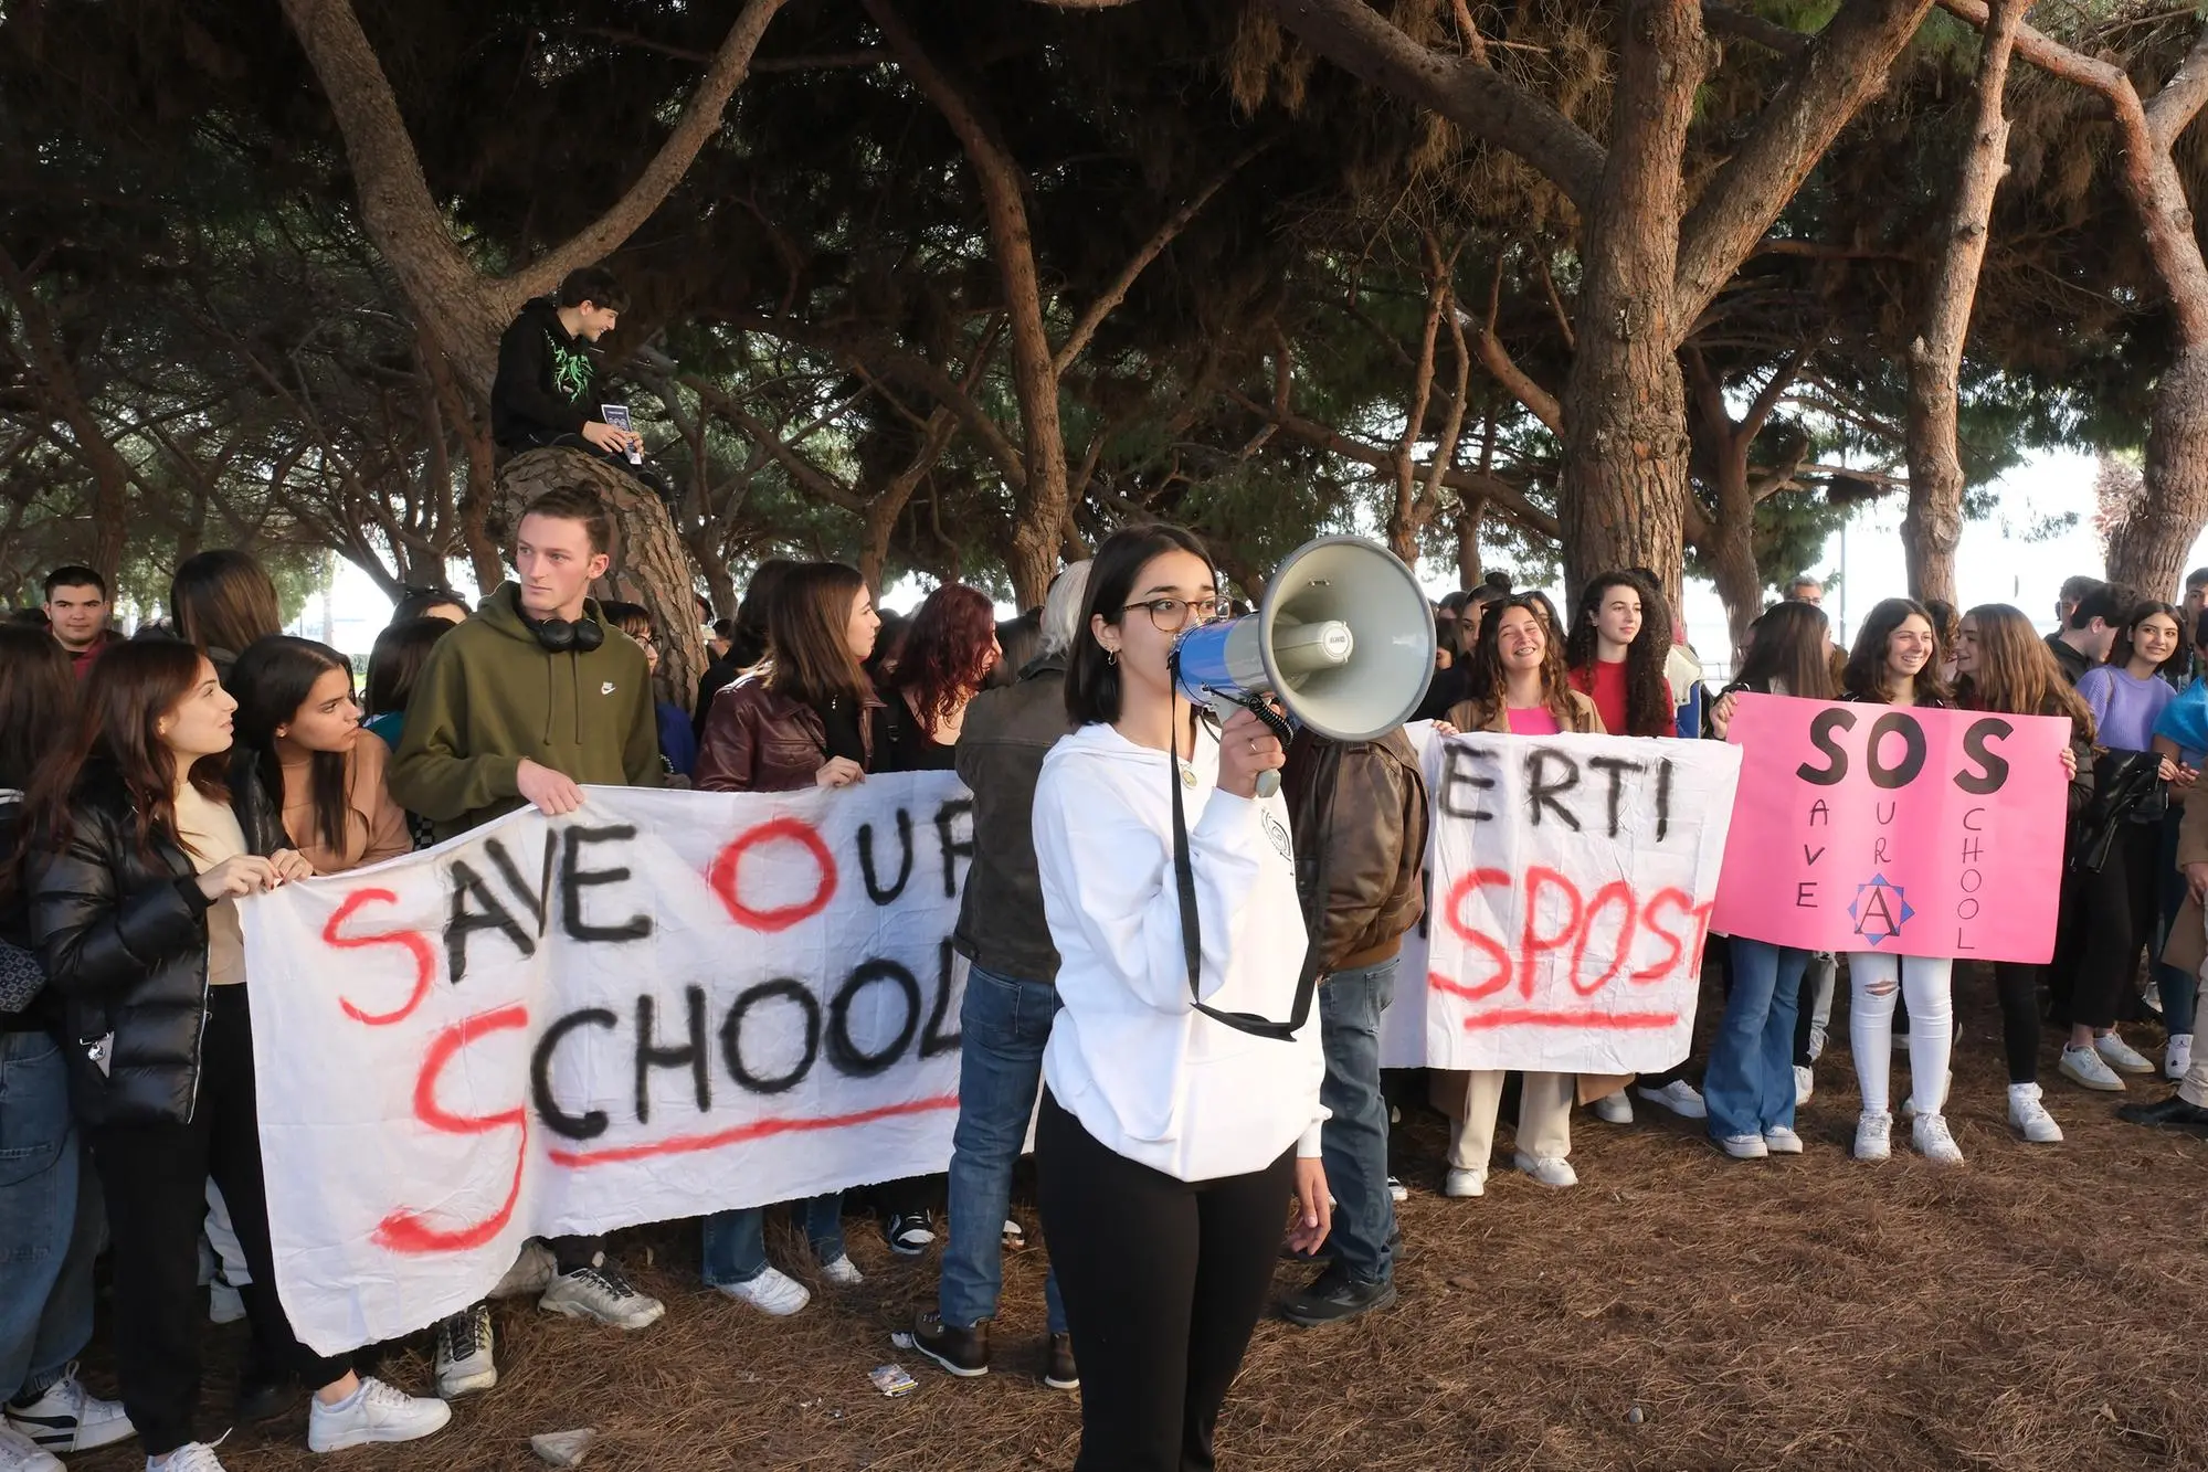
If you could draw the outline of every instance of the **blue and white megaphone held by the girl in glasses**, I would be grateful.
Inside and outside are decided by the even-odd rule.
[[[1221,719],[1236,706],[1270,717],[1270,693],[1318,735],[1371,742],[1426,697],[1433,607],[1387,547],[1320,536],[1281,563],[1256,614],[1181,633],[1172,662],[1181,693]],[[1259,790],[1278,786],[1265,772]]]

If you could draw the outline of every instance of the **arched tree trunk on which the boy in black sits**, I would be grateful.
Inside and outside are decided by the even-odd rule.
[[[521,510],[554,486],[583,486],[598,492],[614,519],[614,565],[598,585],[601,598],[625,598],[651,611],[660,647],[660,686],[667,700],[684,711],[698,693],[704,673],[704,638],[698,633],[698,605],[691,591],[689,552],[676,532],[667,503],[627,472],[581,450],[526,450],[499,470],[499,494],[486,530],[499,545],[512,545]],[[488,591],[488,589],[486,589]]]

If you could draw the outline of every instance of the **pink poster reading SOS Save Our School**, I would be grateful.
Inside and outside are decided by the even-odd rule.
[[[2069,722],[1742,695],[1711,929],[1804,951],[2042,962]]]

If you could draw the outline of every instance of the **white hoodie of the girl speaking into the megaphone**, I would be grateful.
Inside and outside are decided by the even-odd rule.
[[[1221,1011],[1285,1020],[1305,929],[1281,797],[1219,792],[1219,744],[1197,739],[1183,786],[1203,922],[1199,986]],[[1252,1037],[1190,1006],[1172,883],[1170,757],[1104,724],[1066,735],[1036,783],[1036,863],[1058,945],[1042,1077],[1104,1148],[1179,1181],[1318,1154],[1327,1073],[1318,1006],[1294,1042]]]

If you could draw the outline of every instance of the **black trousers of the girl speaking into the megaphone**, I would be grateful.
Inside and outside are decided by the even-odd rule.
[[[1294,1150],[1248,1176],[1175,1181],[1042,1092],[1036,1196],[1082,1366],[1075,1472],[1210,1472],[1294,1190]]]

